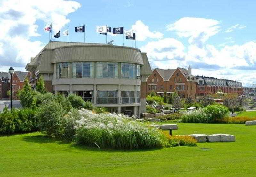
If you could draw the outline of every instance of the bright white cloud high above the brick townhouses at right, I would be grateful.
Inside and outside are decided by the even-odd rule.
[[[219,21],[206,18],[184,17],[167,25],[167,31],[174,31],[179,37],[189,38],[188,42],[203,47],[209,37],[220,31]]]

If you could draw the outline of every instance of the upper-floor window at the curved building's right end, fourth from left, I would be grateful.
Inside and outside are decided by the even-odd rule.
[[[136,79],[137,78],[137,71],[136,71],[136,64],[132,63],[121,63],[121,78],[124,79]],[[137,67],[138,70],[138,67]]]

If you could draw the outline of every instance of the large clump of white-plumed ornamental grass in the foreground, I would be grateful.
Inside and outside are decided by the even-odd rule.
[[[93,114],[86,110],[78,122],[76,143],[100,148],[163,148],[168,146],[164,134],[141,122],[114,114]]]

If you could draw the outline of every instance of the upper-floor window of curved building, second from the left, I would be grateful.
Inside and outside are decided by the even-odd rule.
[[[73,78],[92,78],[93,63],[92,62],[72,62]]]

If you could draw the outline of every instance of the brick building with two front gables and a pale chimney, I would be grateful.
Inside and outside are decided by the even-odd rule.
[[[178,67],[177,69],[155,68],[153,74],[147,79],[147,93],[152,91],[158,95],[177,92],[181,98],[196,98],[197,80],[191,75],[191,67],[188,70]]]

